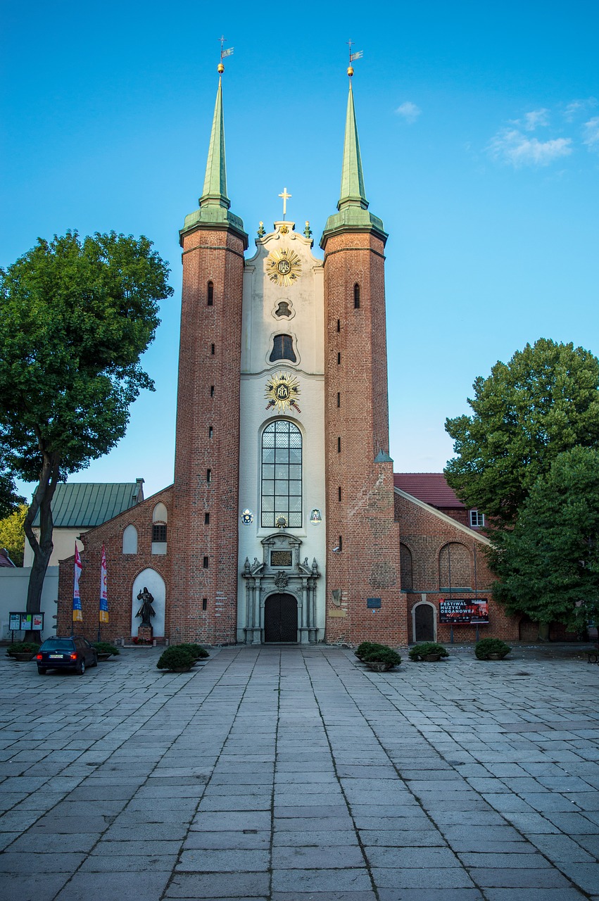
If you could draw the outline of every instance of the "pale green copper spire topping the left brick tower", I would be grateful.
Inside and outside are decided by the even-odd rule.
[[[186,232],[196,228],[226,228],[237,232],[248,246],[248,236],[243,231],[243,222],[239,216],[229,212],[231,201],[227,196],[227,167],[224,159],[224,118],[222,115],[222,71],[219,65],[218,90],[214,104],[213,127],[208,145],[208,159],[204,188],[198,203],[200,208],[186,216],[185,224],[179,234],[181,241]]]

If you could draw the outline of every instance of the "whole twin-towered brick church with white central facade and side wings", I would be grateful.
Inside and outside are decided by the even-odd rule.
[[[180,231],[174,484],[84,535],[89,637],[103,544],[106,639],[142,634],[144,587],[154,638],[208,644],[443,641],[440,598],[489,596],[478,521],[411,494],[402,477],[394,484],[387,235],[368,210],[348,74],[324,259],[313,256],[308,223],[296,232],[285,213],[272,232],[260,224],[245,256],[248,235],[227,195],[219,77],[204,190]],[[72,628],[72,593],[70,558],[60,565],[59,634]],[[490,606],[482,628],[517,638],[514,621]],[[458,640],[474,640],[474,626],[460,628]]]

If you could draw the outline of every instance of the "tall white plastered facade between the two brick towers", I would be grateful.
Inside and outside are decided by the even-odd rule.
[[[264,641],[265,602],[285,590],[297,600],[297,640],[316,642],[324,637],[326,578],[322,260],[313,256],[311,239],[296,233],[290,222],[275,223],[275,231],[256,244],[243,280],[237,637],[239,642]],[[280,277],[277,259],[285,256],[293,261],[295,278]],[[291,336],[295,361],[269,359],[275,337],[283,334]],[[268,384],[281,374],[297,379],[295,404],[269,405]],[[260,524],[261,448],[264,429],[281,419],[294,423],[302,435],[302,524],[277,529]],[[250,511],[251,522],[247,515],[244,522],[244,511]],[[313,511],[320,522],[311,522]],[[293,564],[273,569],[270,549],[287,545]]]

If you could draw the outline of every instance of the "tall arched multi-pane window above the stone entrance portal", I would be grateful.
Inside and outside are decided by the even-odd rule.
[[[302,432],[277,419],[262,432],[262,509],[260,523],[274,529],[285,520],[302,526]]]

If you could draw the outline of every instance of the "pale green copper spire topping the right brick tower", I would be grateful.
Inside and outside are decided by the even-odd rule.
[[[354,95],[351,89],[353,68],[348,69],[349,96],[348,112],[345,118],[345,141],[343,144],[343,168],[341,169],[341,191],[337,209],[339,213],[329,216],[322,232],[323,248],[331,234],[339,232],[377,232],[386,241],[382,221],[368,213],[368,200],[364,189],[362,157],[359,152],[358,125],[354,109]]]

